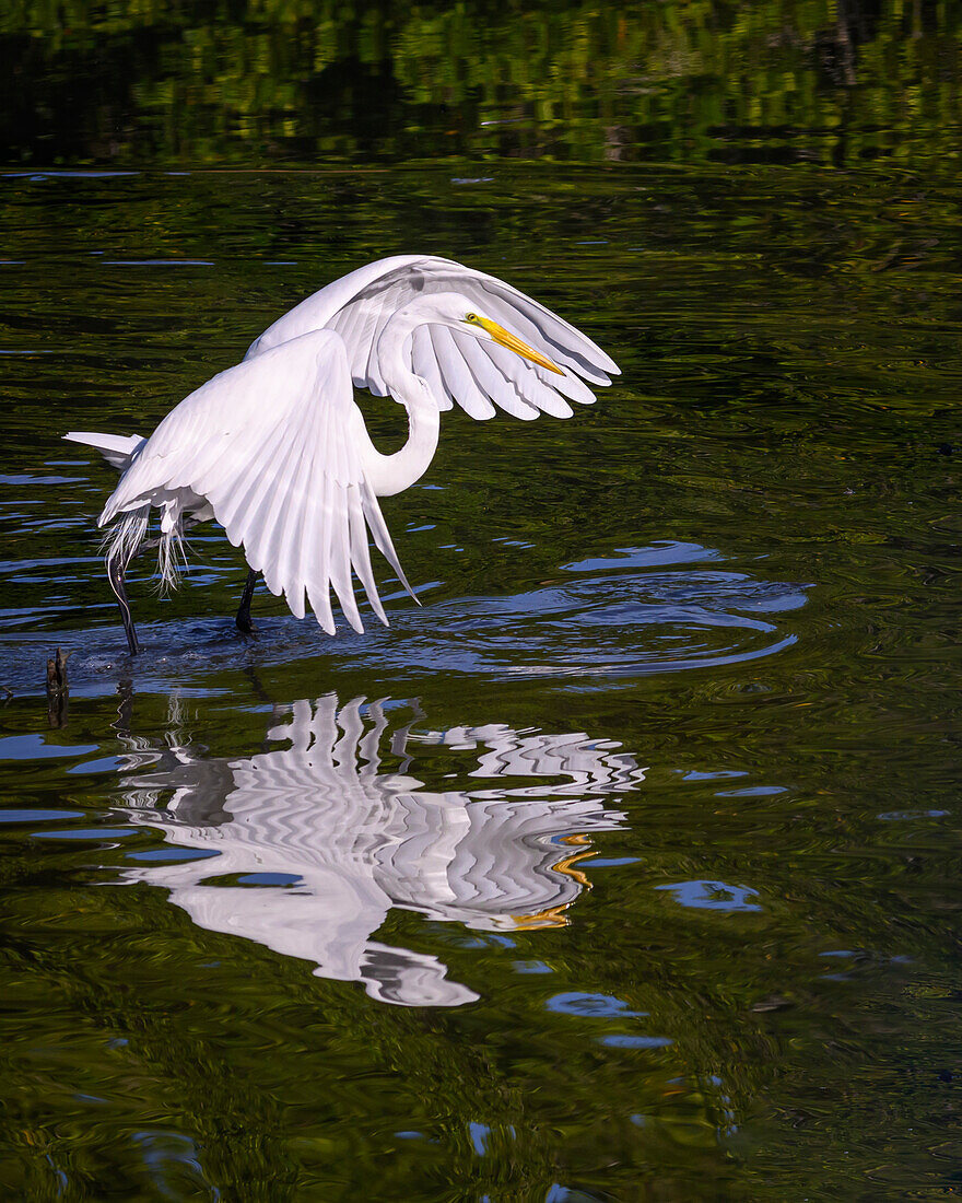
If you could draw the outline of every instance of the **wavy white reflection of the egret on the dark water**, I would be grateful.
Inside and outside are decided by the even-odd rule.
[[[432,731],[410,705],[339,706],[329,694],[275,717],[286,721],[267,737],[290,746],[243,759],[127,737],[125,769],[141,770],[120,787],[130,818],[208,855],[125,879],[168,889],[202,928],[400,1006],[479,996],[438,958],[372,938],[392,907],[486,931],[568,921],[589,834],[624,820],[606,799],[645,776],[614,741],[497,723]],[[414,775],[438,747],[470,758],[457,775],[468,788],[438,792]]]

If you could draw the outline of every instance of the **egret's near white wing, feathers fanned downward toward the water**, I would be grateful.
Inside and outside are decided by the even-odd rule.
[[[263,573],[272,593],[285,594],[298,618],[307,592],[317,622],[333,635],[333,586],[351,626],[363,630],[354,569],[386,624],[368,527],[411,588],[364,476],[366,444],[344,343],[332,331],[314,331],[221,372],[184,398],[121,479],[100,526],[146,502],[206,498],[231,543],[243,545],[250,567]]]

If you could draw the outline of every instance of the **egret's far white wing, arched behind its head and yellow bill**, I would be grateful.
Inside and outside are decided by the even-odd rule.
[[[459,292],[562,368],[540,368],[497,343],[446,326],[422,326],[411,339],[411,368],[432,387],[440,409],[457,402],[471,417],[493,417],[498,405],[521,419],[539,413],[570,417],[569,401],[590,404],[592,385],[611,384],[618,366],[600,346],[551,309],[485,272],[435,255],[396,255],[351,272],[302,301],[255,339],[248,358],[309,330],[337,331],[348,348],[354,383],[382,397],[388,391],[378,339],[398,309],[426,292]]]

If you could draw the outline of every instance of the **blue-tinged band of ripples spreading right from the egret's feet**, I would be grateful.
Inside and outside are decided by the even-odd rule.
[[[423,608],[402,603],[390,614],[390,629],[374,620],[363,635],[342,628],[333,640],[313,622],[286,616],[261,620],[253,642],[240,642],[226,616],[142,622],[143,653],[130,675],[138,686],[172,677],[183,683],[191,669],[203,669],[209,680],[212,670],[238,663],[322,656],[382,675],[538,677],[587,691],[655,672],[738,664],[791,646],[796,635],[783,615],[804,605],[807,586],[703,567],[720,558],[694,544],[625,549],[569,564],[556,580],[507,597],[426,602]],[[190,588],[189,579],[184,587]],[[16,617],[5,623],[12,628]],[[115,677],[118,660],[126,663],[119,627],[31,633],[0,653],[2,680],[16,688],[26,670],[35,687],[36,656],[48,654],[52,638],[75,652],[77,685]]]

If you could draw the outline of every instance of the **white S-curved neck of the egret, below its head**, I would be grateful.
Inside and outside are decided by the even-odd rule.
[[[384,383],[392,397],[408,410],[408,442],[393,455],[381,455],[367,440],[362,452],[364,475],[378,497],[402,493],[428,470],[438,449],[441,411],[427,383],[405,362],[405,344],[423,322],[417,304],[398,310],[378,339],[376,354]],[[410,352],[408,355],[408,361]]]

